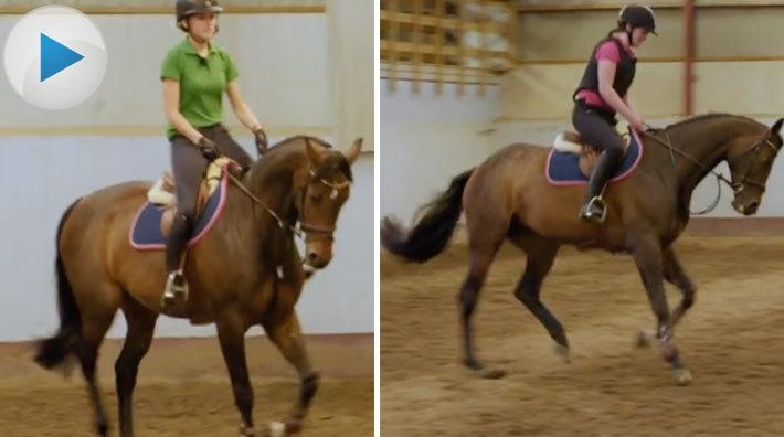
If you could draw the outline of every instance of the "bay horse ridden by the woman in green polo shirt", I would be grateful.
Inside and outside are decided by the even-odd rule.
[[[317,138],[292,137],[235,179],[240,183],[229,185],[221,218],[189,251],[184,273],[191,292],[179,307],[160,306],[163,253],[138,252],[128,242],[149,182],[104,188],[65,211],[56,237],[60,330],[39,343],[35,360],[52,369],[71,355],[78,359],[99,435],[105,436],[108,426],[95,364],[117,309],[128,324],[115,362],[123,436],[134,435],[131,399],[138,366],[160,313],[215,323],[244,436],[254,435],[244,334],[261,324],[300,377],[298,401],[283,423],[274,423],[273,435],[301,427],[319,375],[308,359],[294,305],[305,281],[304,269],[324,268],[332,258],[332,234],[349,198],[351,164],[361,142],[357,139],[343,154]],[[294,227],[297,222],[299,228]],[[300,232],[305,233],[304,263],[294,241]],[[269,429],[256,431],[267,435]]]

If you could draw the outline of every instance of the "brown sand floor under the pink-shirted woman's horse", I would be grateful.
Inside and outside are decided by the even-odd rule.
[[[628,256],[563,248],[555,259],[542,300],[566,329],[566,364],[515,298],[525,255],[505,246],[474,324],[479,359],[508,371],[501,380],[459,363],[465,246],[422,266],[382,257],[382,435],[784,435],[784,237],[689,236],[676,251],[698,286],[676,329],[687,387],[657,349],[633,345],[655,319]]]

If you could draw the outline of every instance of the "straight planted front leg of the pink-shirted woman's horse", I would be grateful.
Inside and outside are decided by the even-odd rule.
[[[675,331],[665,295],[661,245],[655,237],[642,238],[634,245],[633,256],[643,278],[648,301],[656,316],[656,337],[661,345],[664,359],[670,363],[675,382],[681,385],[688,384],[691,381],[691,374],[684,365],[678,348],[675,345]]]

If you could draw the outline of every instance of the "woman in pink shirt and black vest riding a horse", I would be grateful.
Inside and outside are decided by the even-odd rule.
[[[656,34],[656,18],[647,7],[621,10],[617,28],[593,49],[585,73],[574,92],[572,124],[591,146],[602,150],[589,179],[589,190],[580,217],[602,222],[605,205],[601,192],[624,157],[624,143],[615,130],[615,114],[626,118],[632,129],[643,131],[645,120],[628,99],[637,56],[634,50]]]

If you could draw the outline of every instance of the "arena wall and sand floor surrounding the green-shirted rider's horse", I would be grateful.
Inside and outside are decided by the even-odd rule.
[[[49,1],[0,1],[0,35]],[[57,1],[87,13],[103,33],[108,66],[83,104],[49,111],[0,86],[0,435],[95,435],[80,366],[70,376],[33,362],[35,341],[60,326],[55,234],[66,207],[103,186],[156,180],[170,166],[160,68],[182,41],[173,0]],[[305,284],[296,306],[321,380],[301,435],[373,434],[373,4],[342,0],[220,0],[215,42],[237,64],[246,104],[274,145],[296,135],[346,151],[363,137],[335,256]],[[120,6],[121,4],[121,6]],[[361,38],[358,38],[361,35]],[[56,38],[53,35],[52,38]],[[224,124],[256,156],[251,132],[224,103]],[[300,247],[301,249],[301,247]],[[301,252],[300,252],[301,253]],[[231,254],[219,254],[231,257]],[[234,259],[243,263],[244,259]],[[163,255],[160,255],[163,266]],[[144,273],[139,273],[144,275]],[[161,280],[161,284],[163,281]],[[162,292],[162,288],[161,288]],[[121,315],[99,351],[97,379],[108,435],[118,436],[115,360]],[[299,379],[255,326],[246,337],[259,429],[299,398]],[[240,413],[212,324],[160,317],[134,393],[137,436],[236,436]],[[262,434],[256,434],[262,435]]]

